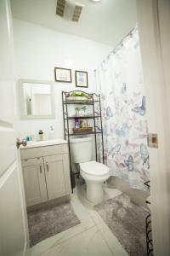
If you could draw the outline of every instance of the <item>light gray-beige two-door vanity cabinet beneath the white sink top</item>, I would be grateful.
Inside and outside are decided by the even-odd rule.
[[[26,206],[71,194],[67,144],[20,149]]]

